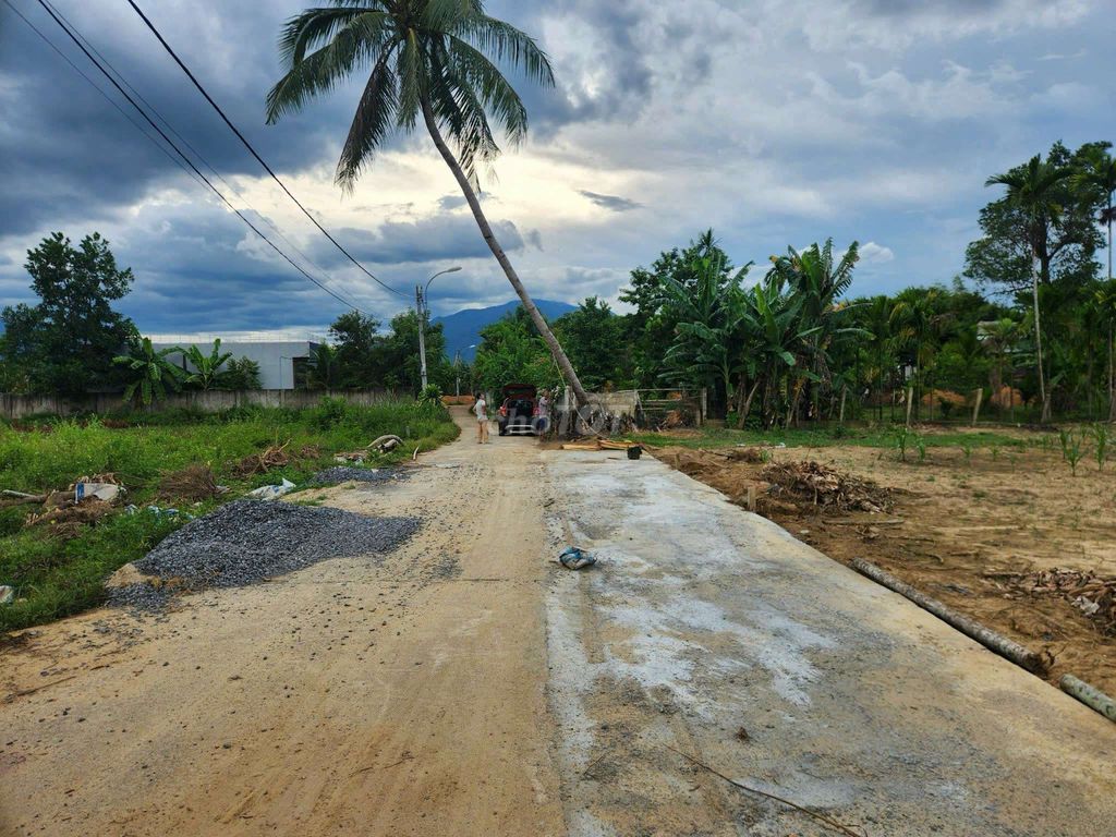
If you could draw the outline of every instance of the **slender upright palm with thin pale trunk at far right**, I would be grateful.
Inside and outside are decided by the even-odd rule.
[[[1039,371],[1039,396],[1042,398],[1042,417],[1050,420],[1050,394],[1046,387],[1046,373],[1042,368],[1042,326],[1039,318],[1039,247],[1046,239],[1047,224],[1056,222],[1061,215],[1061,206],[1055,200],[1056,187],[1072,172],[1068,167],[1043,162],[1041,154],[1036,154],[1026,165],[1012,169],[1003,174],[989,177],[985,186],[1007,186],[1008,201],[1020,209],[1027,219],[1024,237],[1031,249],[1031,291],[1035,302],[1035,357]]]

